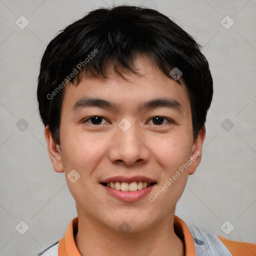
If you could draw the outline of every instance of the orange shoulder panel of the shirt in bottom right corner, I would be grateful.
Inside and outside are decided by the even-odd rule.
[[[254,256],[256,255],[256,244],[249,242],[238,242],[226,239],[217,235],[218,239],[226,246],[233,256]]]

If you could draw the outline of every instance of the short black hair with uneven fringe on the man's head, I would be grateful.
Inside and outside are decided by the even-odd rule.
[[[168,78],[177,67],[188,91],[193,139],[203,127],[212,99],[212,77],[201,46],[164,14],[150,8],[119,5],[98,8],[60,30],[41,59],[37,100],[44,126],[60,144],[59,126],[64,86],[74,79],[107,78],[114,72],[136,73],[134,59],[146,54]],[[175,77],[174,77],[175,78]],[[174,79],[180,83],[179,79]]]

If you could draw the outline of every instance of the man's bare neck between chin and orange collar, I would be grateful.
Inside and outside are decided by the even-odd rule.
[[[74,241],[81,256],[184,256],[184,243],[174,232],[173,218],[174,213],[146,230],[122,233],[78,214]]]

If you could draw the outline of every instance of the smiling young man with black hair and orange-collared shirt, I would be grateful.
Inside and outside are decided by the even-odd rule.
[[[37,98],[78,216],[39,255],[254,255],[174,215],[212,91],[197,43],[156,10],[96,9],[53,38]]]

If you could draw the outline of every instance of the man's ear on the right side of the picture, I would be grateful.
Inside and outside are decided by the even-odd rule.
[[[205,137],[205,126],[199,130],[196,140],[193,142],[190,160],[191,164],[189,166],[188,174],[191,175],[195,172],[197,166],[199,165],[201,161],[202,156],[202,144]]]

